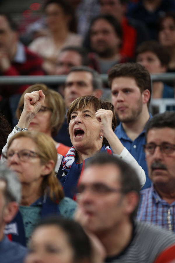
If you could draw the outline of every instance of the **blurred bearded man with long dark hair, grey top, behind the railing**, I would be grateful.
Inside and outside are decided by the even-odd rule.
[[[106,73],[117,63],[127,61],[120,54],[122,45],[122,28],[111,15],[99,15],[93,19],[90,26],[90,47],[96,54],[90,54],[94,68],[100,73]]]

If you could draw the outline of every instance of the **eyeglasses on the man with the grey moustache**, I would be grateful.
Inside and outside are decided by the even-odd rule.
[[[175,151],[175,144],[163,142],[161,144],[147,143],[143,145],[146,154],[154,154],[155,148],[160,147],[160,150],[165,154],[171,154]]]

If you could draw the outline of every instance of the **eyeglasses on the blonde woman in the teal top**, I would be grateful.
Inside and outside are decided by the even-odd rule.
[[[6,153],[2,153],[2,156],[5,159],[10,160],[13,157],[14,154],[15,154],[15,152],[9,151],[9,152],[6,152]],[[16,154],[17,154],[18,158],[20,159],[20,161],[23,161],[23,162],[27,161],[29,158],[41,157],[40,154],[35,153],[33,151],[30,151],[30,150],[20,150]]]

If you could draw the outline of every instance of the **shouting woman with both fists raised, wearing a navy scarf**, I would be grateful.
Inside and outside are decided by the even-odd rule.
[[[24,95],[24,109],[17,124],[20,130],[29,127],[43,105],[44,97],[42,90]],[[136,170],[141,186],[145,184],[144,170],[114,133],[116,117],[111,103],[101,101],[92,95],[79,97],[71,103],[67,120],[73,146],[64,157],[58,154],[56,167],[57,177],[67,197],[74,198],[86,160],[100,151],[112,154],[109,145],[118,158],[122,158]],[[13,135],[13,132],[9,137]],[[3,151],[5,149],[6,146]]]

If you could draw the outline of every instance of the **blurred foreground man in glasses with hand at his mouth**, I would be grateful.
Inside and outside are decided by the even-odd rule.
[[[133,169],[112,155],[97,155],[85,166],[77,217],[104,245],[105,262],[152,263],[175,243],[172,233],[134,221],[139,188]]]

